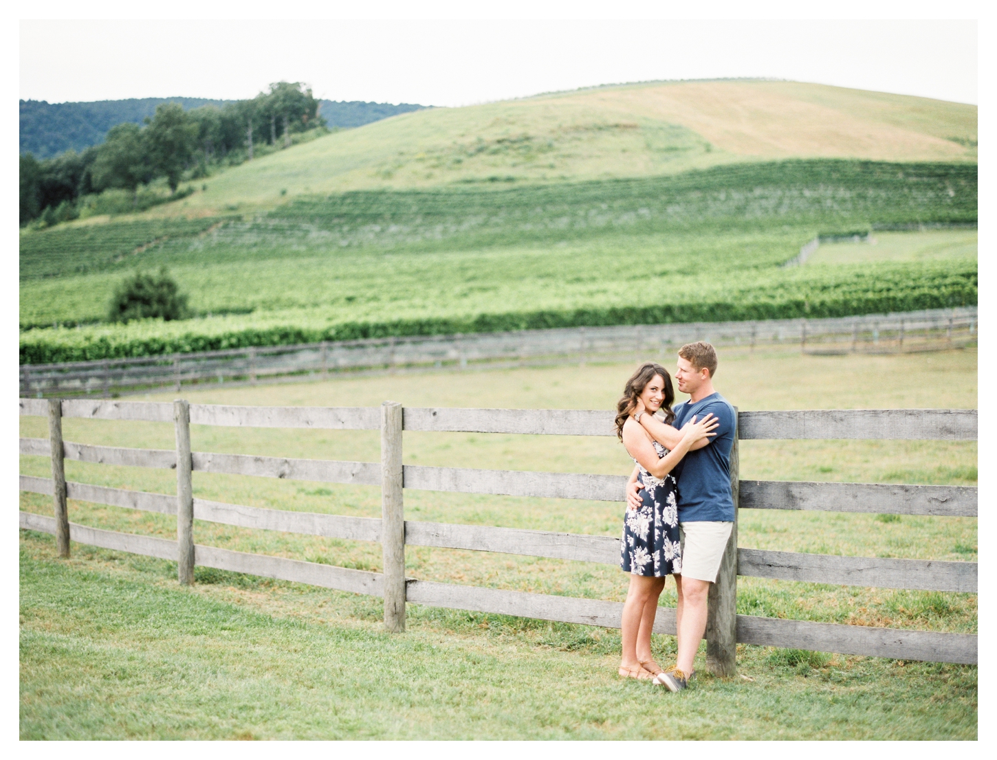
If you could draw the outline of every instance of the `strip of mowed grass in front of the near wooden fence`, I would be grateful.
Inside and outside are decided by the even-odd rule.
[[[21,547],[22,739],[976,738],[975,667],[742,646],[752,680],[676,697],[615,677],[613,632],[411,606],[391,635],[374,599]]]

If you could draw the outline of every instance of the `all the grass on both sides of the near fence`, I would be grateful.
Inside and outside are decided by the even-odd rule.
[[[673,364],[672,358],[657,358]],[[632,366],[340,378],[200,390],[245,404],[609,408]],[[975,407],[972,351],[802,357],[721,351],[717,385],[742,409]],[[173,393],[151,395],[169,399]],[[23,417],[22,435],[47,434]],[[171,425],[67,419],[67,439],[172,446]],[[194,427],[197,450],[377,460],[376,433]],[[742,477],[975,485],[976,445],[932,441],[744,441]],[[406,433],[406,462],[622,473],[612,438]],[[21,471],[48,462],[22,457]],[[67,462],[71,479],[169,493],[171,471]],[[202,498],[358,516],[376,488],[195,473]],[[47,497],[21,508],[51,513]],[[616,535],[620,505],[406,491],[407,518]],[[70,503],[75,522],[171,537],[156,514]],[[976,561],[976,520],[744,510],[740,545]],[[22,738],[975,738],[976,668],[739,646],[741,673],[682,695],[619,680],[616,631],[410,606],[382,633],[380,602],[197,570],[22,531]],[[195,540],[380,570],[380,547],[197,522]],[[417,578],[622,600],[610,566],[412,547]],[[976,595],[740,579],[739,613],[976,632]],[[669,585],[662,604],[674,604]],[[674,639],[656,636],[659,657]],[[701,654],[702,655],[702,654]]]

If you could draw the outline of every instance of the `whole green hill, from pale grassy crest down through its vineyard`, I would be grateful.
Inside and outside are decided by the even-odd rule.
[[[161,265],[202,317],[26,330],[21,360],[975,303],[969,244],[780,268],[821,233],[975,224],[975,139],[974,107],[782,82],[405,114],[22,233],[22,330],[99,322]]]

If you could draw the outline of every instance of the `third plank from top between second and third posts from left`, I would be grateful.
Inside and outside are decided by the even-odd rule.
[[[317,512],[288,512],[282,509],[247,507],[205,499],[193,500],[195,520],[207,520],[241,528],[304,533],[310,536],[346,538],[354,541],[380,541],[381,520],[374,517],[344,517]]]

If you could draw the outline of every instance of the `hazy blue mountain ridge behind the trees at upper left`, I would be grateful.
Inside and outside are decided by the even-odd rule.
[[[233,101],[206,98],[131,98],[92,103],[20,102],[20,152],[36,158],[51,158],[64,150],[84,150],[104,141],[108,129],[124,122],[142,124],[163,103],[178,103],[184,110],[200,106],[224,106]],[[329,127],[362,127],[397,114],[426,108],[416,104],[322,101],[319,115]]]

